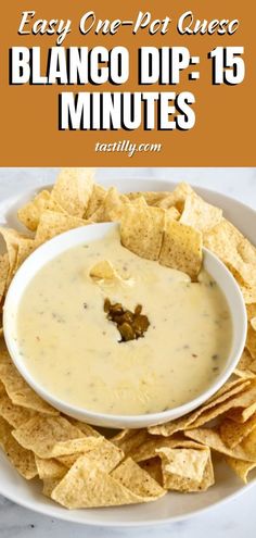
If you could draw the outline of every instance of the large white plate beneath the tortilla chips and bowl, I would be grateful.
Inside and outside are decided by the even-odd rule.
[[[113,182],[102,180],[101,184],[110,186]],[[115,180],[115,185],[121,191],[128,190],[169,190],[174,184],[145,179]],[[0,201],[0,222],[13,227],[20,227],[15,216],[16,209],[27,199],[30,199],[38,185],[24,189],[23,185],[10,185],[10,197]],[[15,189],[15,190],[14,190]],[[223,195],[207,189],[196,188],[207,201],[220,207],[225,215],[230,218],[251,241],[255,241],[256,212],[246,205],[232,200]],[[13,193],[15,192],[15,195]],[[21,228],[21,227],[20,227]],[[8,462],[5,455],[0,452],[0,493],[8,499],[25,508],[59,517],[69,522],[101,526],[141,526],[161,525],[183,520],[201,513],[217,503],[230,500],[256,484],[256,472],[251,474],[249,483],[244,486],[241,480],[220,460],[216,462],[216,484],[203,493],[176,493],[169,492],[163,499],[149,504],[114,509],[93,509],[68,511],[51,502],[40,492],[40,484],[37,480],[30,483],[24,480]]]

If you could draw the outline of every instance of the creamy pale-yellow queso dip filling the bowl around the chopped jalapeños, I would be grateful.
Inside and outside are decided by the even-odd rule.
[[[95,278],[107,261],[113,275]],[[150,322],[120,341],[104,301]],[[203,270],[197,283],[120,245],[119,233],[47,263],[24,291],[17,341],[34,378],[69,404],[110,414],[167,410],[197,397],[223,367],[232,326],[226,299]]]

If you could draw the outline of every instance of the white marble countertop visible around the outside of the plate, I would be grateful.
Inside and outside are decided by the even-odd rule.
[[[0,198],[10,191],[17,178],[21,185],[40,176],[51,183],[56,168],[0,168]],[[102,168],[100,175],[113,177],[148,177],[187,180],[193,185],[218,190],[256,209],[256,168]],[[106,529],[81,526],[36,514],[0,497],[0,538],[253,538],[256,528],[256,488],[221,504],[205,514],[180,523],[138,529]]]

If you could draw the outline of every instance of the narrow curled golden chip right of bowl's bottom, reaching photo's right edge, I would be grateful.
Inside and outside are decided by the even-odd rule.
[[[202,442],[204,447],[208,447],[216,452],[225,455],[231,455],[231,458],[236,458],[236,460],[255,461],[254,456],[249,456],[247,451],[245,451],[241,446],[230,449],[222,441],[219,431],[214,428],[202,428],[202,429],[188,429],[184,435],[190,439],[197,442]]]

